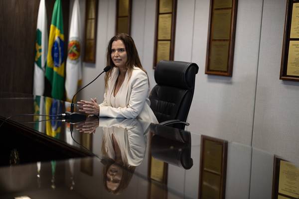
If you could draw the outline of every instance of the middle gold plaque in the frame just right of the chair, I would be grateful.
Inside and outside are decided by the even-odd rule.
[[[229,39],[231,9],[214,10],[212,19],[212,39]]]

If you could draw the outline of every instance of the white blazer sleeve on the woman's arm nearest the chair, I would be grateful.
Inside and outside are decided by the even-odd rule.
[[[143,110],[148,98],[149,82],[144,71],[137,71],[131,77],[132,91],[127,107],[100,106],[100,117],[136,118]]]

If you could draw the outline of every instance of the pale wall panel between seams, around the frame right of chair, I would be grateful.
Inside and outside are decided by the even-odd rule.
[[[189,113],[188,129],[191,132],[250,145],[262,0],[238,2],[231,78],[204,74],[209,2],[209,0],[197,0],[195,4],[192,62],[198,64],[199,71]]]

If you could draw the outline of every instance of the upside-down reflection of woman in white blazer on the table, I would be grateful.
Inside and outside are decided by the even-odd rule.
[[[136,119],[101,119],[104,136],[104,185],[108,192],[119,194],[126,189],[135,168],[146,152],[145,128]]]

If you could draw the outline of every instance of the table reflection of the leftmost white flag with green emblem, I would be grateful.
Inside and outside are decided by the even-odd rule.
[[[35,96],[34,97],[34,114],[43,114],[44,113],[44,97],[43,96]],[[33,119],[34,129],[38,130],[39,132],[44,132],[44,122],[40,121],[43,120],[43,116],[34,115]]]

